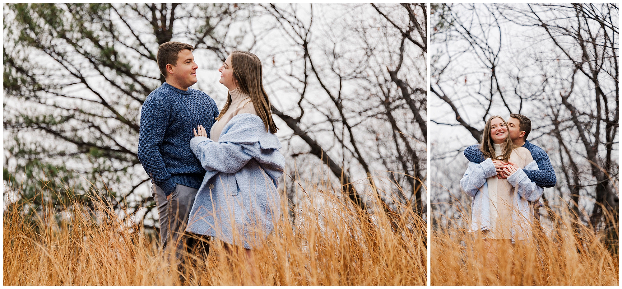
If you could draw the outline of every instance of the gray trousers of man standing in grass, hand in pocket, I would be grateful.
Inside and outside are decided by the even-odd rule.
[[[210,250],[208,236],[185,232],[197,191],[198,189],[177,184],[167,200],[159,186],[151,186],[160,221],[160,244],[165,252],[175,253],[174,261],[178,266],[187,263],[188,257],[193,264],[197,258],[205,260]]]

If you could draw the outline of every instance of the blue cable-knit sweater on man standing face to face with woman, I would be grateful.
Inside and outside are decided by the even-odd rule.
[[[169,196],[177,184],[198,189],[205,169],[190,149],[193,128],[210,128],[218,116],[205,92],[162,83],[142,103],[138,159],[152,181]]]

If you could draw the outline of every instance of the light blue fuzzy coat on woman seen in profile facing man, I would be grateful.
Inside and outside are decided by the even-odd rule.
[[[197,136],[190,148],[207,173],[186,230],[246,249],[261,245],[281,214],[277,179],[285,158],[279,139],[259,116],[241,113],[225,125],[218,142]]]

